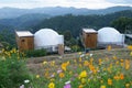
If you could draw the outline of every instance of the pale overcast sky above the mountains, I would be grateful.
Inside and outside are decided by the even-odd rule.
[[[0,0],[0,8],[43,8],[43,7],[75,7],[103,9],[113,6],[131,6],[132,0]]]

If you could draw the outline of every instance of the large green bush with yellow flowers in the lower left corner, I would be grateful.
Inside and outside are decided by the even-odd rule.
[[[0,55],[0,88],[19,88],[30,75],[18,52],[2,51]]]

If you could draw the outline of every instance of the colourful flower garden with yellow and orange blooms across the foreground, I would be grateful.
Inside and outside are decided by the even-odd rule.
[[[0,88],[132,88],[131,77],[132,46],[41,61],[3,50],[0,59]]]

